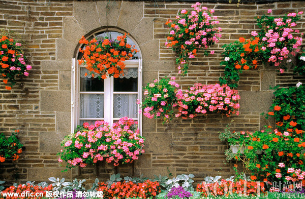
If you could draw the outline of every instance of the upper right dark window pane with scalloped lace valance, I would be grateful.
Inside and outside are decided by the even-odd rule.
[[[113,91],[138,91],[138,68],[125,68],[124,76],[119,75],[113,80]]]

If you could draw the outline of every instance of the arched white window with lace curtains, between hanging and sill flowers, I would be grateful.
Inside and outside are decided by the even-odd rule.
[[[91,38],[103,38],[105,36],[116,38],[123,35],[117,31],[100,31],[90,36]],[[127,43],[135,45],[140,50],[134,40],[127,35]],[[83,48],[81,46],[80,48]],[[80,59],[81,53],[78,53],[77,59]],[[138,59],[126,60],[124,75],[118,78],[107,77],[99,79],[99,74],[87,75],[88,70],[85,65],[79,65],[78,61],[72,60],[72,124],[71,132],[77,125],[84,122],[94,123],[97,120],[104,120],[112,125],[121,117],[133,118],[138,121],[141,129],[141,114],[136,104],[137,99],[141,99],[142,94],[142,59],[141,52],[137,53]]]

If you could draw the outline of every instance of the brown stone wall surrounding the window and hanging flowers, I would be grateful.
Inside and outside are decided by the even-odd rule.
[[[216,2],[216,1],[215,1]],[[0,179],[9,183],[45,181],[48,177],[96,178],[96,168],[78,169],[61,173],[56,153],[60,141],[70,132],[71,58],[75,57],[78,39],[101,27],[117,27],[129,32],[138,43],[143,58],[143,85],[155,78],[177,76],[183,89],[194,83],[215,84],[223,75],[220,66],[221,46],[249,37],[256,28],[255,17],[268,9],[274,15],[304,11],[303,2],[273,2],[246,5],[205,3],[215,9],[215,16],[223,29],[222,39],[212,46],[214,55],[198,53],[185,77],[177,75],[175,54],[164,47],[165,22],[174,18],[181,9],[189,9],[188,2],[141,1],[18,1],[0,2],[0,28],[12,29],[27,42],[26,57],[33,69],[27,78],[20,79],[11,91],[0,83],[0,132],[9,134],[20,129],[24,151],[15,166],[12,162],[0,164]],[[302,16],[298,28],[305,32]],[[154,174],[174,176],[195,175],[196,181],[205,176],[221,174],[230,176],[230,164],[224,164],[225,143],[218,139],[231,120],[234,130],[258,130],[264,125],[274,125],[260,115],[272,103],[269,86],[288,86],[304,77],[293,75],[292,69],[280,74],[272,67],[259,66],[243,72],[239,81],[240,115],[230,118],[222,115],[201,115],[190,120],[173,120],[168,125],[143,118],[145,150],[133,165],[112,168],[99,165],[99,178],[105,179],[113,172],[124,175]],[[78,176],[78,174],[81,176]],[[15,179],[16,178],[16,179]]]

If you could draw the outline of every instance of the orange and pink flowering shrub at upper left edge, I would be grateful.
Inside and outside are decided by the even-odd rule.
[[[28,76],[28,70],[31,69],[32,66],[25,63],[21,44],[8,34],[0,32],[0,74],[4,78],[3,82],[10,82],[13,86],[16,84],[16,75]],[[11,86],[5,88],[11,90]]]

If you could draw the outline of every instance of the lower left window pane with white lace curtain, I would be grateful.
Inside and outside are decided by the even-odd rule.
[[[80,94],[80,118],[104,117],[104,94]]]

